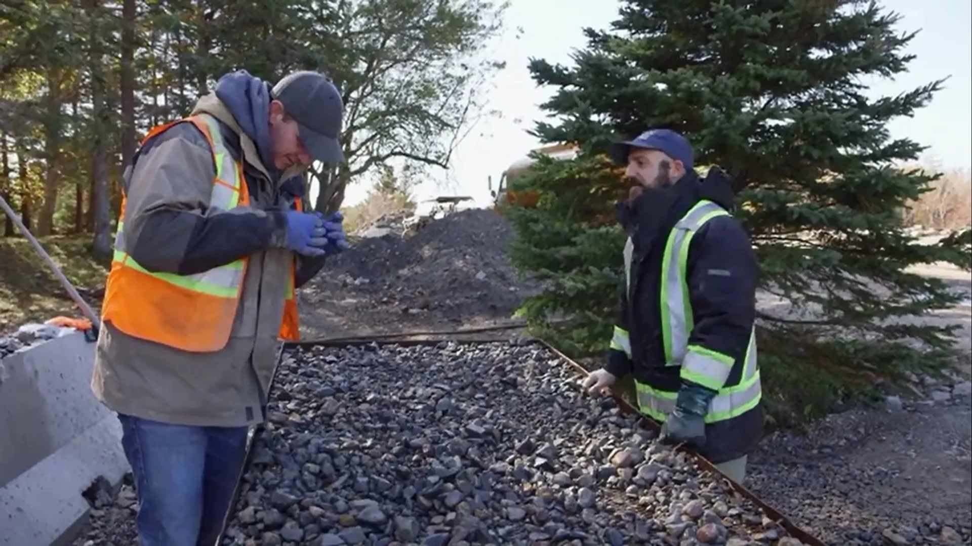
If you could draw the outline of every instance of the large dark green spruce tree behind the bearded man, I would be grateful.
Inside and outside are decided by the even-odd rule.
[[[923,148],[891,139],[886,123],[912,116],[943,81],[893,97],[862,80],[893,78],[912,56],[899,16],[855,0],[626,0],[606,32],[585,29],[573,66],[532,59],[555,87],[538,123],[544,143],[581,147],[573,161],[539,160],[511,188],[536,190],[536,209],[513,209],[513,260],[549,282],[522,312],[538,327],[573,319],[560,340],[606,347],[621,282],[623,236],[610,202],[625,185],[604,152],[618,136],[675,129],[696,162],[736,181],[761,259],[764,290],[806,320],[761,316],[760,361],[778,417],[827,409],[876,377],[931,369],[952,356],[951,328],[895,321],[949,307],[956,296],[916,263],[968,267],[970,233],[922,245],[901,211],[932,177],[899,168]]]

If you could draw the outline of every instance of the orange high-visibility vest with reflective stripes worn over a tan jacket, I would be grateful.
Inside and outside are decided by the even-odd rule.
[[[243,163],[233,161],[226,149],[219,122],[203,114],[190,121],[209,141],[216,164],[216,178],[209,206],[229,210],[250,204],[250,192],[243,178]],[[142,145],[179,121],[159,125],[142,139]],[[302,210],[299,199],[296,210]],[[102,321],[110,321],[122,332],[192,353],[210,353],[226,347],[239,307],[248,258],[244,257],[195,275],[152,273],[135,262],[124,246],[124,209],[115,234],[115,252],[108,273]],[[299,339],[295,290],[295,263],[287,281],[284,316],[278,336]]]

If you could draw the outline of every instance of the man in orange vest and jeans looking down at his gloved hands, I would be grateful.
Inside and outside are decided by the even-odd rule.
[[[265,415],[295,290],[347,246],[306,212],[311,161],[343,161],[341,94],[296,72],[239,71],[156,127],[125,172],[95,395],[121,420],[142,546],[213,546]]]

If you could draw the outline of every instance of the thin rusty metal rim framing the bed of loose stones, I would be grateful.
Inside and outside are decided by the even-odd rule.
[[[414,346],[434,346],[442,342],[451,342],[451,343],[458,343],[463,345],[496,343],[498,341],[503,341],[503,338],[498,338],[495,340],[482,340],[482,339],[463,339],[462,337],[459,336],[462,336],[464,334],[471,334],[471,333],[485,333],[494,330],[495,331],[509,330],[518,327],[523,327],[523,326],[519,324],[503,324],[499,326],[469,328],[465,330],[402,332],[398,334],[382,334],[382,335],[375,335],[375,336],[350,336],[350,337],[338,337],[338,338],[330,338],[330,339],[288,342],[284,344],[284,346],[281,348],[280,353],[277,357],[277,369],[279,369],[280,363],[283,361],[283,358],[287,354],[287,352],[294,349],[301,349],[301,348],[305,349],[311,347],[343,349],[348,347],[362,347],[365,345],[372,345],[372,344],[414,347]],[[424,337],[423,339],[415,339],[415,337],[430,336],[430,335],[434,335],[436,337],[434,338]],[[531,338],[530,343],[540,345],[547,351],[550,351],[552,354],[556,355],[558,358],[564,360],[567,363],[567,365],[570,366],[578,376],[587,374],[587,370],[583,366],[581,366],[576,361],[574,361],[573,358],[570,358],[564,353],[562,353],[560,350],[552,346],[550,343],[538,338]],[[276,370],[274,370],[273,378],[270,380],[269,390],[271,393],[273,392],[273,385],[275,381],[276,381]],[[618,408],[621,410],[622,413],[628,415],[639,413],[638,410],[635,409],[630,403],[628,403],[627,400],[618,396],[616,393],[612,394],[611,397],[614,398],[614,402],[618,405]],[[643,427],[652,429],[655,432],[658,432],[661,428],[657,423],[651,421],[650,419],[644,416],[641,417],[641,423]],[[262,425],[256,427],[250,437],[250,440],[247,443],[246,461],[244,462],[243,469],[240,472],[240,476],[236,484],[236,492],[233,497],[233,502],[232,504],[230,504],[229,513],[226,515],[225,526],[229,524],[229,520],[231,519],[231,516],[236,512],[236,503],[239,500],[240,487],[242,485],[243,476],[248,471],[250,464],[253,460],[254,447],[257,444],[261,431],[262,431]],[[766,501],[759,498],[759,496],[755,495],[754,493],[746,489],[746,487],[743,486],[742,484],[736,482],[729,476],[726,476],[714,464],[712,464],[711,461],[708,461],[704,457],[692,452],[691,450],[687,450],[684,448],[677,448],[677,449],[679,449],[680,451],[684,451],[686,454],[692,457],[699,464],[700,467],[716,475],[721,476],[722,479],[724,479],[737,494],[746,497],[753,504],[758,506],[766,514],[767,517],[775,521],[783,529],[786,529],[786,531],[790,534],[790,536],[796,538],[797,540],[800,540],[807,546],[827,546],[827,544],[825,544],[819,538],[816,538],[816,536],[810,534],[804,529],[797,527],[789,518],[784,516],[780,510],[777,510],[776,508],[768,504]],[[219,544],[220,541],[222,541],[222,536],[220,537],[219,541],[217,541],[217,544]]]

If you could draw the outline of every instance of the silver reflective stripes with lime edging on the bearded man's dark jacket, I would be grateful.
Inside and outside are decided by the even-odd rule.
[[[746,361],[740,383],[731,387],[724,386],[734,365],[731,358],[688,344],[689,334],[694,327],[686,280],[688,249],[692,237],[706,222],[728,214],[712,201],[700,201],[677,222],[669,233],[665,254],[662,257],[660,312],[665,362],[668,366],[680,366],[682,379],[710,387],[717,392],[712,398],[709,414],[706,416],[707,423],[742,415],[755,407],[762,397],[759,368],[756,365],[755,328],[749,334]],[[629,238],[624,249],[626,282],[629,290],[633,251],[634,245]],[[617,329],[619,328],[615,328],[615,336]],[[612,346],[613,343],[612,338]],[[628,347],[630,351],[630,342]],[[660,391],[637,381],[635,383],[642,413],[656,421],[665,421],[668,413],[675,408],[677,392]]]

